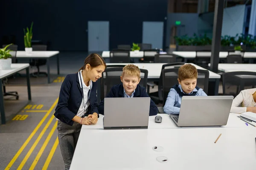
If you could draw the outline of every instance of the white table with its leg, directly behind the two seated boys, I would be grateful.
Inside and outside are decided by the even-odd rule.
[[[107,63],[107,66],[110,65],[127,65],[131,63]],[[148,81],[155,81],[160,78],[160,74],[162,71],[163,64],[167,63],[132,63],[136,66],[138,66],[140,69],[147,69],[148,70]],[[204,69],[201,66],[198,66],[194,63],[190,63],[193,66],[195,66],[197,69]],[[206,70],[206,69],[204,69]],[[215,91],[214,94],[218,95],[218,86],[219,86],[219,80],[221,78],[220,75],[216,74],[215,72],[209,71],[209,81],[215,82]]]

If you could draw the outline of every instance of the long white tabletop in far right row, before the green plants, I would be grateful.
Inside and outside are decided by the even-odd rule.
[[[183,58],[195,58],[196,52],[172,52]],[[211,52],[200,52],[200,56],[211,57]],[[219,58],[227,58],[228,52],[220,52]],[[256,52],[244,52],[244,58],[256,58]]]

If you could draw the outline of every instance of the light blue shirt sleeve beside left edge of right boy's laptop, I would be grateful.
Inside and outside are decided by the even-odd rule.
[[[176,91],[175,89],[171,89],[168,93],[168,97],[166,99],[166,103],[163,107],[163,111],[168,114],[179,114],[180,108],[175,107],[175,98],[176,98]]]

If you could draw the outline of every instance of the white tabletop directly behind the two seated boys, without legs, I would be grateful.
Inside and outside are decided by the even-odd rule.
[[[131,64],[131,63],[107,63],[107,66],[108,65],[127,65],[127,64]],[[140,69],[147,69],[148,78],[160,78],[162,66],[163,64],[166,64],[166,63],[132,63],[132,64],[138,66]],[[197,69],[204,69],[203,67],[195,65],[193,63],[190,63],[190,64],[195,66]],[[221,78],[221,76],[216,74],[215,72],[209,71],[209,78]]]

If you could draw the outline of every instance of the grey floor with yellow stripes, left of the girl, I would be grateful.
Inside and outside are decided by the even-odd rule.
[[[15,76],[15,78],[8,79],[6,90],[17,91],[20,99],[16,101],[14,98],[5,97],[4,106],[7,123],[0,125],[0,170],[4,170],[10,162],[13,163],[9,168],[10,170],[16,170],[21,165],[23,170],[29,170],[42,146],[45,146],[45,149],[39,160],[35,160],[38,161],[35,170],[41,170],[44,165],[48,166],[48,170],[64,169],[64,161],[62,160],[59,146],[51,152],[57,138],[57,130],[54,128],[56,119],[51,119],[55,109],[53,104],[58,98],[63,78],[67,74],[77,72],[83,66],[87,55],[88,53],[86,52],[61,52],[59,56],[61,75],[57,75],[56,59],[52,58],[50,60],[52,83],[47,84],[46,77],[30,78],[32,85],[32,101],[30,103],[27,101],[26,78]],[[26,63],[27,61],[19,62]],[[42,66],[40,69],[41,71],[47,70],[46,66]],[[35,68],[30,68],[30,72],[34,71],[36,71]],[[20,73],[24,74],[25,72]],[[150,92],[156,90],[157,86],[154,89],[150,89]],[[30,109],[26,108],[27,104],[31,105]],[[43,106],[39,107],[38,105],[40,104]],[[53,109],[47,112],[51,107]],[[45,118],[47,114],[48,116]],[[22,115],[23,117],[27,115],[27,117],[25,120],[12,120],[17,115]],[[49,127],[47,127],[47,124]],[[49,142],[47,143],[45,141],[52,128],[54,128],[54,133],[51,138],[48,137]],[[38,130],[35,132],[36,129]],[[43,131],[45,132],[42,133]],[[31,137],[31,135],[33,136]],[[29,139],[30,141],[28,141]],[[22,148],[23,150],[21,150]],[[52,159],[48,158],[50,153],[54,153]],[[13,159],[15,156],[17,156],[16,160]]]

